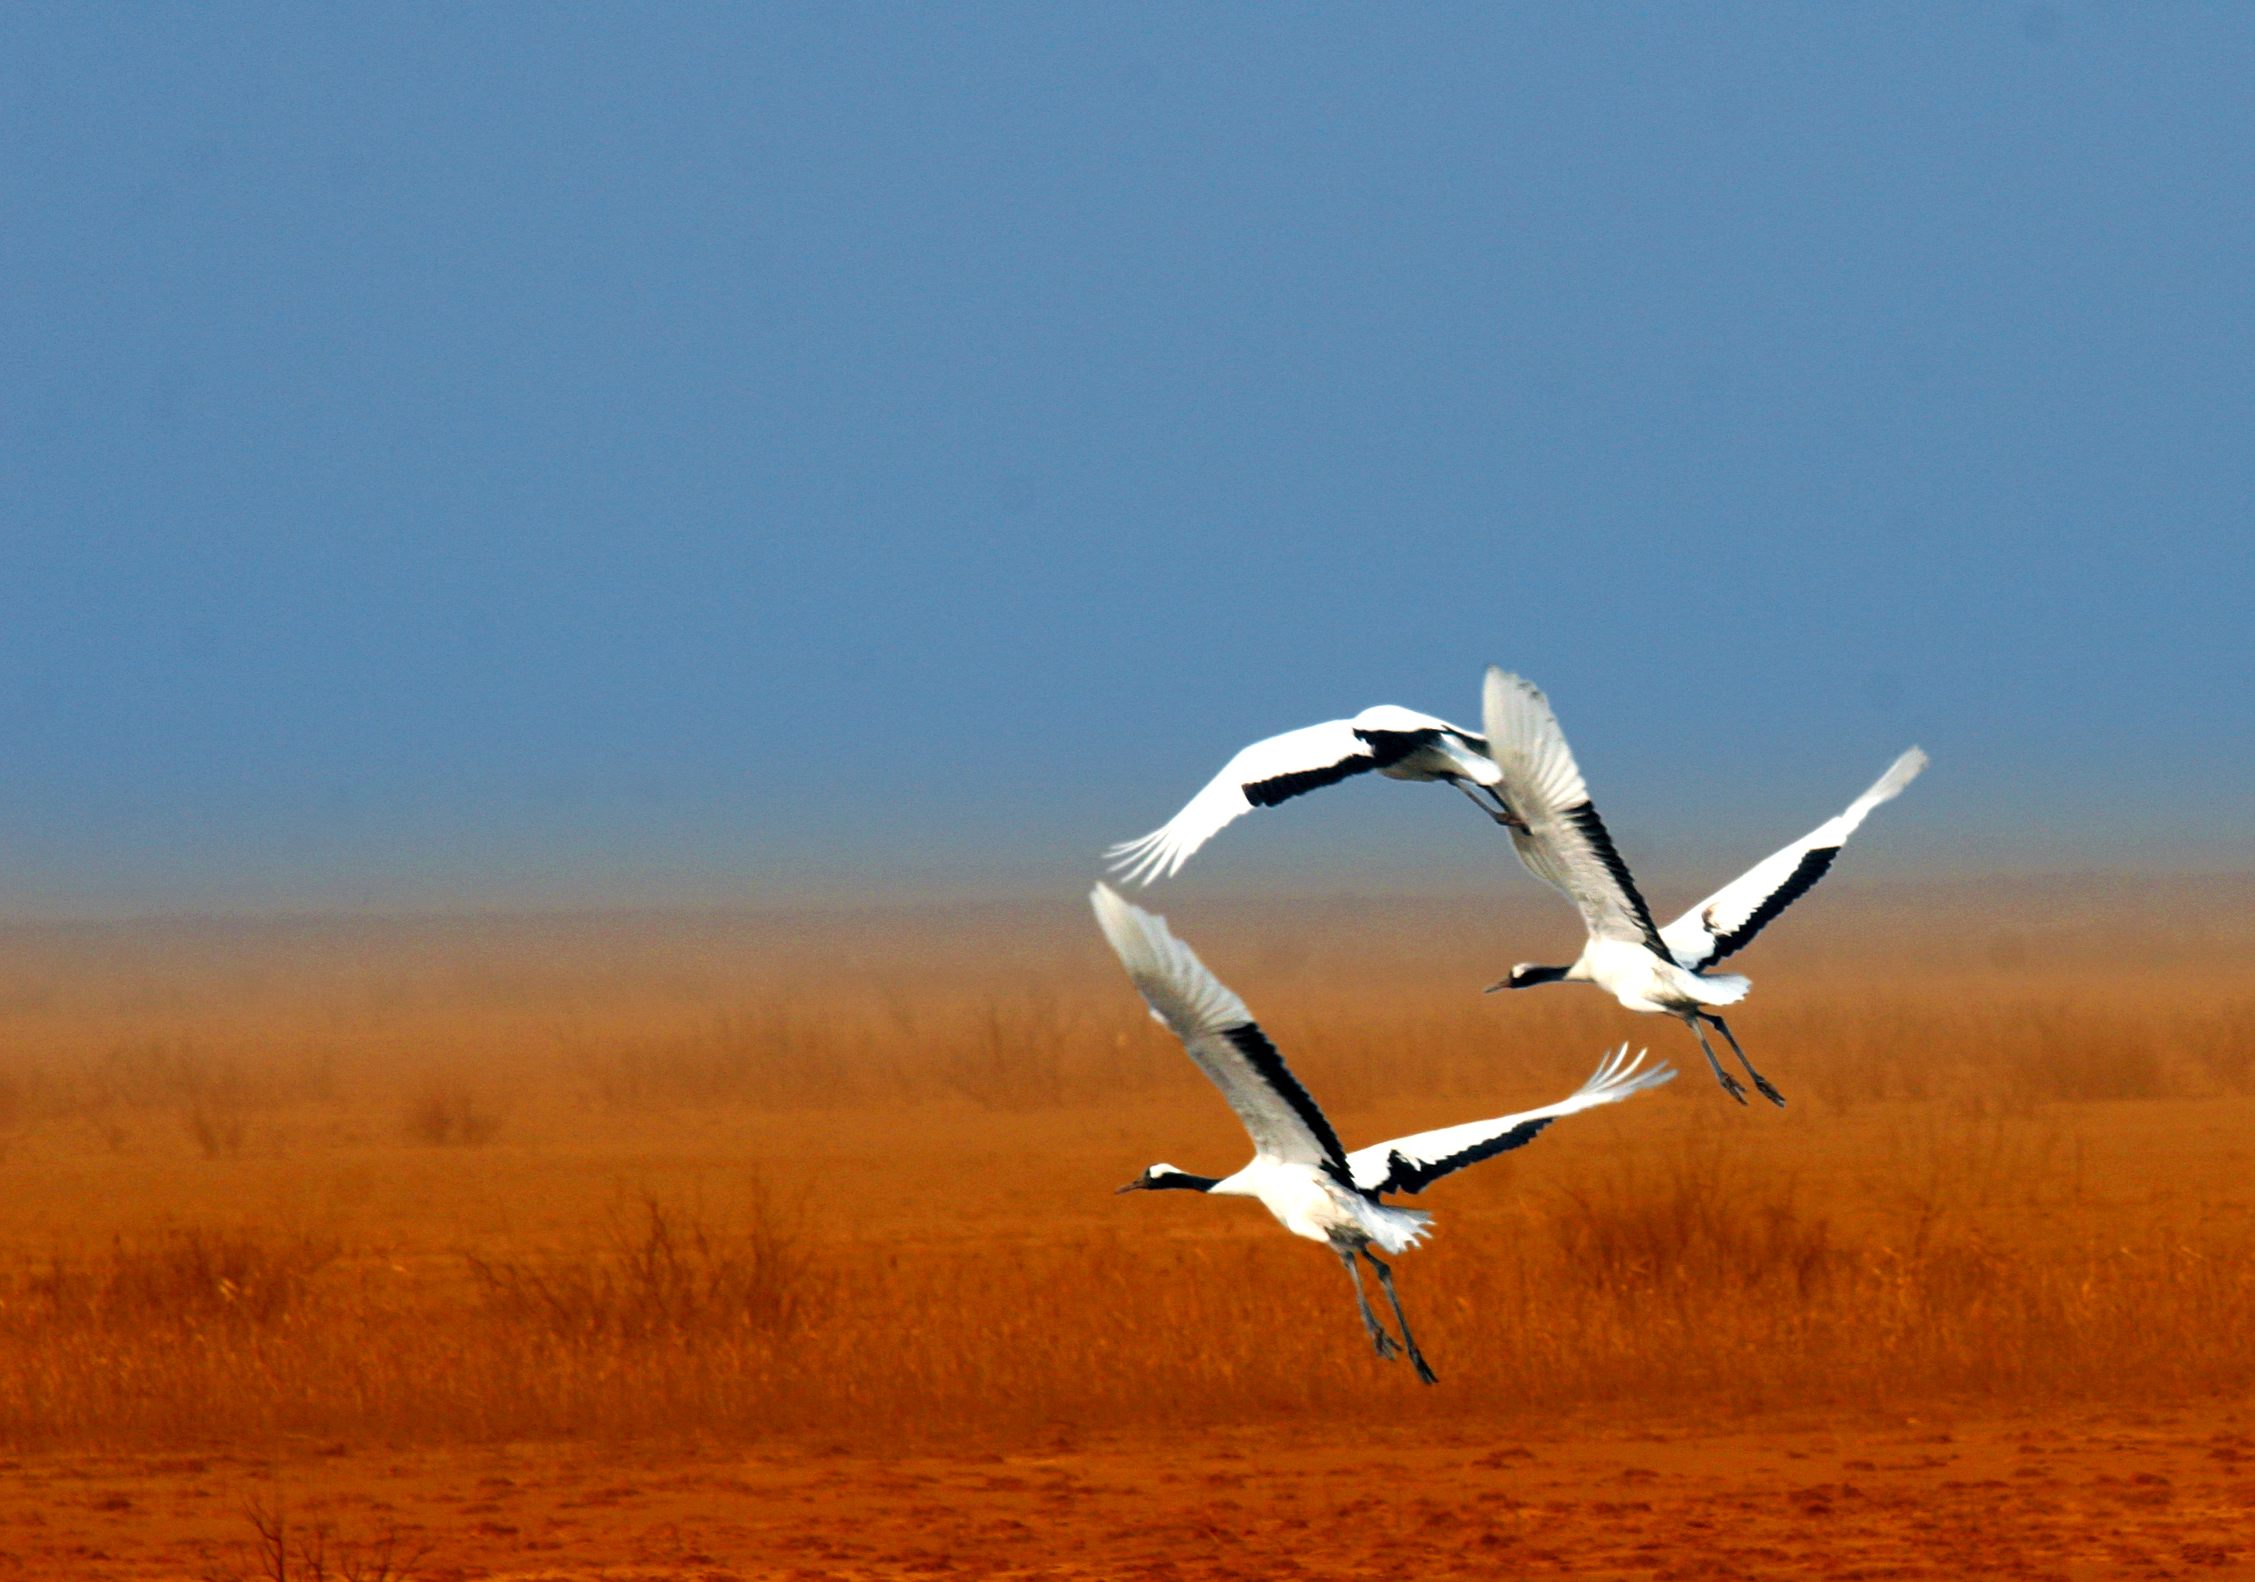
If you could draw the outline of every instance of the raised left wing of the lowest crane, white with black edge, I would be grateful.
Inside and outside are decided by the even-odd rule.
[[[1324,1167],[1344,1183],[1339,1134],[1254,1023],[1245,1001],[1168,933],[1164,917],[1132,906],[1105,883],[1089,892],[1089,904],[1152,1019],[1182,1039],[1200,1070],[1213,1077],[1245,1122],[1254,1152],[1288,1165]]]

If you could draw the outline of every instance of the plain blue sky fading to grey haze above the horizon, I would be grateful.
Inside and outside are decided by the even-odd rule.
[[[1910,741],[1858,872],[2255,865],[2250,81],[2239,5],[9,7],[0,913],[1078,888],[1491,660],[1646,868]]]

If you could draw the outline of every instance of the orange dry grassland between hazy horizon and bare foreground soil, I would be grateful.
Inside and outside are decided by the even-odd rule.
[[[1243,1201],[1078,906],[14,928],[0,1440],[1053,1438],[2151,1404],[2255,1384],[2255,888],[1838,888],[1739,1109],[1551,908],[1173,901],[1348,1147],[1682,1079],[1439,1183],[1441,1372]]]

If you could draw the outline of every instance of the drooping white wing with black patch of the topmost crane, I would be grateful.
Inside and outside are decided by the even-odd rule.
[[[1326,719],[1321,726],[1254,741],[1222,764],[1222,773],[1184,802],[1179,814],[1139,841],[1121,841],[1105,856],[1112,859],[1112,872],[1130,883],[1170,879],[1197,847],[1256,807],[1274,807],[1339,780],[1387,768],[1443,735],[1470,744],[1477,757],[1479,737],[1394,703],[1367,708],[1353,719]]]

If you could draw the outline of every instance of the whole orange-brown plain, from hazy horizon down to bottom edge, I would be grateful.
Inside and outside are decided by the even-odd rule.
[[[1818,895],[1732,1019],[1786,1111],[1482,996],[1563,908],[1166,910],[1348,1147],[1682,1070],[1418,1199],[1436,1388],[1112,1194],[1245,1140],[1078,904],[0,933],[0,1577],[2255,1550],[2255,886]]]

